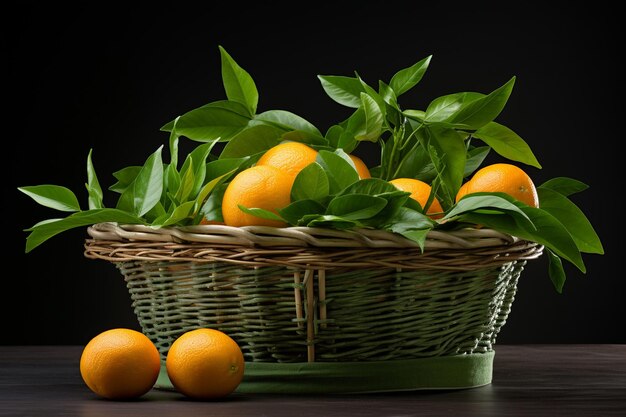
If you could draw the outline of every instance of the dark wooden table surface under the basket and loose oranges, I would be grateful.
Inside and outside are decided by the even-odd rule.
[[[0,346],[0,416],[626,416],[626,345],[497,346],[489,386],[362,395],[233,394],[199,402],[152,390],[99,399],[79,346]]]

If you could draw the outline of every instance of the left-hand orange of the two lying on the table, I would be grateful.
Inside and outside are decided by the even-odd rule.
[[[116,400],[140,397],[159,376],[161,357],[143,333],[112,329],[100,333],[83,349],[80,374],[101,397]]]

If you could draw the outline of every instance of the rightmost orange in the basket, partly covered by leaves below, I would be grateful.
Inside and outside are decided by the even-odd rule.
[[[533,180],[521,168],[511,164],[493,164],[476,171],[472,179],[459,189],[456,201],[478,192],[506,193],[531,207],[539,207]]]

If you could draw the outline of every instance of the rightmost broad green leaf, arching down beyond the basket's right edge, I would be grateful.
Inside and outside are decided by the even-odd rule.
[[[537,189],[541,209],[556,217],[572,235],[578,250],[604,254],[600,238],[585,214],[567,197],[549,188]]]

